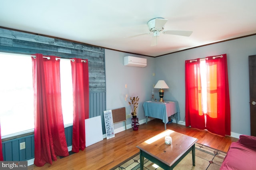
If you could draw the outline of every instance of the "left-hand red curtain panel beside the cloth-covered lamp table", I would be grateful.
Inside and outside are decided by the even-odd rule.
[[[204,114],[201,107],[200,59],[185,61],[186,127],[204,129]]]

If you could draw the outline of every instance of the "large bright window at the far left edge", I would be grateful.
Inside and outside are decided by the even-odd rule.
[[[32,61],[0,54],[0,121],[2,137],[34,129]]]

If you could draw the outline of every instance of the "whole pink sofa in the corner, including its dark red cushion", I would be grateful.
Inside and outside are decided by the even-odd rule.
[[[232,142],[220,170],[256,170],[256,137],[240,135]]]

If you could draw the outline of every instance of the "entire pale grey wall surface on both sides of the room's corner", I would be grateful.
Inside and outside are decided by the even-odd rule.
[[[106,63],[106,108],[126,107],[130,114],[128,102],[124,100],[135,95],[140,97],[138,106],[139,120],[145,119],[142,103],[150,100],[152,86],[160,79],[166,81],[170,89],[165,89],[164,98],[179,102],[180,124],[185,120],[185,60],[204,58],[211,55],[227,54],[228,79],[231,107],[231,136],[250,134],[249,76],[248,56],[256,54],[256,36],[230,40],[227,42],[206,45],[186,51],[172,53],[161,57],[143,57],[148,59],[147,67],[127,67],[123,58],[129,53],[105,50]],[[152,74],[156,73],[153,77]],[[124,85],[128,88],[125,89]],[[158,91],[154,90],[157,98]],[[144,122],[144,121],[142,121]],[[127,119],[127,124],[130,124]],[[119,128],[118,125],[115,128]]]

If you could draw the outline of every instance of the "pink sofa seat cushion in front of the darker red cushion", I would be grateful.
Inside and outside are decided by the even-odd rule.
[[[256,150],[238,142],[232,142],[220,170],[254,170]]]

